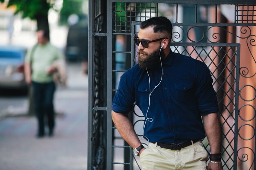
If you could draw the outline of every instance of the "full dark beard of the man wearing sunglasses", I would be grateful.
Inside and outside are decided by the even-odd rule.
[[[154,68],[158,68],[161,66],[161,61],[159,57],[159,52],[160,52],[159,47],[157,50],[153,51],[152,53],[148,54],[142,50],[137,51],[137,54],[139,55],[138,58],[138,64],[141,69],[148,69],[152,70]],[[140,54],[143,54],[144,56],[141,57]],[[164,51],[161,51],[161,60],[165,58]]]

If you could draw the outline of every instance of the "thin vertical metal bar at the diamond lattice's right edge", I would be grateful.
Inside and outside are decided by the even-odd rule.
[[[239,76],[240,76],[240,44],[236,47],[236,101],[235,101],[235,136],[234,136],[234,170],[237,169],[238,154],[238,114],[239,114]]]

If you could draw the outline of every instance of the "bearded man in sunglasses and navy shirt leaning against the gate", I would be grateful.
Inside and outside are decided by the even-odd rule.
[[[172,24],[165,17],[141,22],[135,36],[139,63],[120,79],[112,120],[139,156],[142,170],[222,170],[218,104],[207,66],[170,49]],[[128,113],[136,102],[144,117],[145,148]],[[202,145],[207,136],[211,154]]]

